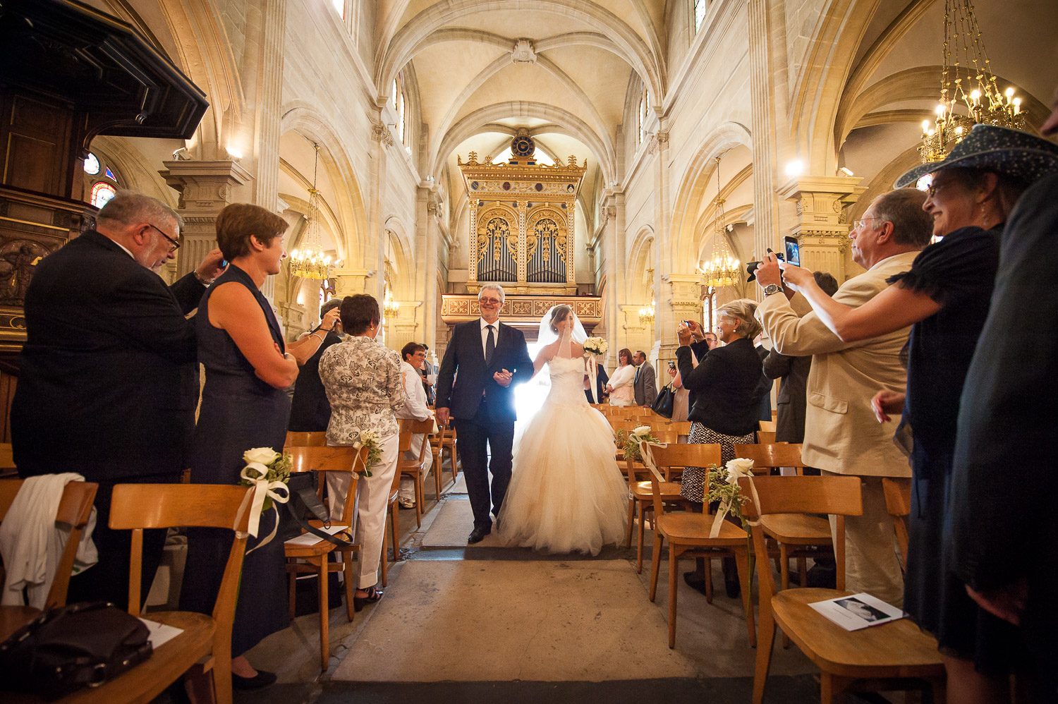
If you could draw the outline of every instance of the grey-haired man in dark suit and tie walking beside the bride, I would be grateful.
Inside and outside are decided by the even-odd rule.
[[[450,416],[453,418],[456,450],[474,510],[474,530],[468,543],[480,542],[492,532],[490,502],[493,515],[499,516],[511,481],[511,449],[517,419],[514,385],[528,381],[533,374],[525,336],[499,322],[503,287],[482,286],[477,302],[481,318],[456,325],[437,378],[437,421],[446,423]],[[488,467],[486,446],[492,453]]]

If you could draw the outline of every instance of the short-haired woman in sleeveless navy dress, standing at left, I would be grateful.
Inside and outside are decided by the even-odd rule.
[[[196,484],[238,484],[243,452],[258,447],[282,451],[290,418],[284,390],[297,378],[297,362],[285,351],[279,323],[260,287],[266,276],[279,273],[286,230],[281,217],[249,203],[234,203],[217,216],[217,242],[230,264],[203,294],[195,319],[199,362],[205,366],[190,452]],[[275,520],[274,511],[261,516],[248,553],[272,531]],[[232,540],[226,529],[188,529],[182,609],[212,613]],[[243,653],[289,622],[282,542],[273,539],[242,563],[232,629],[235,688],[275,682],[273,673],[255,670]]]

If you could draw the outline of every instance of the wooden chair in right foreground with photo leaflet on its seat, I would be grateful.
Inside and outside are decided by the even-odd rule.
[[[752,495],[749,480],[740,480],[742,491]],[[764,699],[774,627],[797,644],[820,670],[820,701],[831,704],[846,691],[914,687],[909,679],[933,686],[934,701],[945,701],[944,663],[936,639],[912,621],[900,619],[858,631],[846,631],[813,609],[810,603],[840,596],[845,591],[845,517],[862,513],[858,476],[759,476],[752,480],[760,504],[750,500],[743,516],[750,519],[759,564],[768,560],[764,530],[758,517],[777,513],[833,513],[837,516],[834,554],[838,589],[792,589],[776,592],[770,570],[759,570],[760,633],[753,674],[753,704]]]

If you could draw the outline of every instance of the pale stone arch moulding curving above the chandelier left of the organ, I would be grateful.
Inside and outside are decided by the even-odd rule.
[[[364,207],[352,162],[329,121],[302,101],[285,105],[281,111],[279,134],[286,134],[293,129],[320,144],[321,162],[327,169],[335,191],[345,196],[339,197],[336,199],[339,202],[335,203],[341,225],[339,233],[343,238],[341,254],[346,267],[355,266],[366,251],[367,211]],[[343,186],[344,193],[341,191]]]

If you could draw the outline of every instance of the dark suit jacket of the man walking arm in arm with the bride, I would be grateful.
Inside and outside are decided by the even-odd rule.
[[[477,413],[482,395],[488,398],[489,413],[496,421],[517,419],[514,410],[514,386],[532,378],[532,360],[522,330],[499,323],[496,349],[486,366],[481,347],[480,320],[460,323],[452,330],[441,371],[437,375],[436,408],[449,409],[453,418],[470,419]],[[510,386],[504,389],[492,375],[500,369],[513,373]],[[456,373],[459,379],[456,380]],[[453,385],[453,381],[455,384]]]

